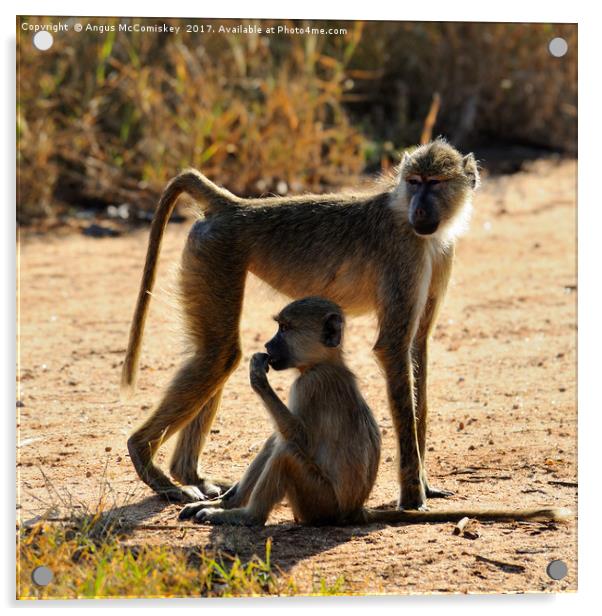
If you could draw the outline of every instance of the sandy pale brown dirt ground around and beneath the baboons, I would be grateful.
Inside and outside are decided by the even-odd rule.
[[[455,493],[429,501],[432,509],[550,504],[576,512],[576,171],[576,161],[539,161],[486,179],[475,200],[431,345],[427,463],[433,484]],[[205,546],[247,558],[262,556],[271,537],[272,561],[301,592],[341,576],[354,593],[576,590],[576,519],[481,524],[477,539],[453,535],[453,524],[303,528],[286,504],[259,530],[180,523],[179,506],[159,501],[137,479],[126,439],[182,356],[169,289],[188,226],[168,228],[139,390],[128,403],[119,400],[118,384],[147,231],[109,239],[22,235],[22,520],[50,505],[57,515],[69,506],[94,507],[104,492],[107,506],[138,525],[133,544]],[[209,476],[239,478],[270,433],[247,366],[285,301],[249,280],[244,359],[202,456]],[[384,441],[373,506],[398,495],[394,430],[371,352],[375,336],[371,317],[350,320],[348,361]],[[291,377],[270,378],[285,396]],[[164,468],[169,453],[168,445],[159,455]],[[553,559],[568,565],[561,581],[546,574]]]

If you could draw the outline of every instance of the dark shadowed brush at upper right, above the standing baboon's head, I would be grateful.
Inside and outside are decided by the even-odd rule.
[[[558,36],[568,43],[562,58],[548,50]],[[576,154],[576,24],[371,22],[350,69],[364,130],[396,145],[418,141],[438,92],[434,134],[457,145]]]

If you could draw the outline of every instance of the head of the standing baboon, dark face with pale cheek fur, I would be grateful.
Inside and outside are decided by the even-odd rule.
[[[406,154],[400,182],[405,184],[408,220],[418,235],[444,228],[470,202],[479,182],[472,154],[462,156],[442,139]]]

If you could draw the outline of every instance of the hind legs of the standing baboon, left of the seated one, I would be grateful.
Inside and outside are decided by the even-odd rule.
[[[153,457],[161,444],[193,422],[178,441],[172,471],[183,481],[199,483],[196,460],[219,406],[221,390],[241,358],[244,258],[224,250],[231,238],[214,234],[199,240],[197,235],[189,237],[180,273],[184,325],[194,355],[171,381],[155,412],[128,441],[139,477],[159,495],[179,501],[197,501],[206,495],[197,485],[176,486],[153,464]]]

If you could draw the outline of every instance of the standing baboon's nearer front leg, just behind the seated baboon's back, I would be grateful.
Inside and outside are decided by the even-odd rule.
[[[426,493],[414,408],[412,333],[410,320],[403,322],[403,316],[382,319],[374,351],[387,378],[389,405],[398,439],[401,482],[399,506],[404,509],[423,509],[426,507]]]

